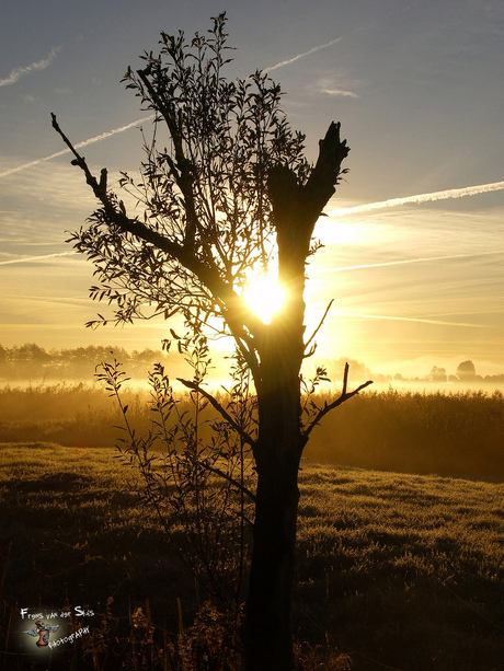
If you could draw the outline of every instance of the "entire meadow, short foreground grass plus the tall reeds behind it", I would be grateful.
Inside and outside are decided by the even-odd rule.
[[[90,626],[47,669],[236,669],[236,622],[202,610],[116,459],[114,401],[84,384],[0,390],[0,669],[39,668],[22,608]],[[147,394],[124,401],[141,430]],[[504,669],[503,409],[499,393],[365,393],[313,431],[300,472],[299,669]]]

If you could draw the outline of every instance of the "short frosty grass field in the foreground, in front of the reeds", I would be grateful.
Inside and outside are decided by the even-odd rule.
[[[76,605],[93,613],[80,623],[90,635],[45,668],[172,668],[169,641],[203,597],[114,454],[0,446],[0,668],[39,668],[16,655],[22,608]],[[309,461],[300,483],[295,624],[306,668],[504,669],[504,485]]]

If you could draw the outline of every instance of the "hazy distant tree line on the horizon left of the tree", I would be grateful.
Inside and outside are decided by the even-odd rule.
[[[180,357],[161,350],[127,351],[124,347],[96,346],[70,349],[44,349],[35,343],[3,347],[0,345],[0,380],[72,379],[92,380],[95,367],[114,357],[124,363],[128,375],[145,378],[153,363],[170,367]],[[180,366],[180,363],[179,363]]]

